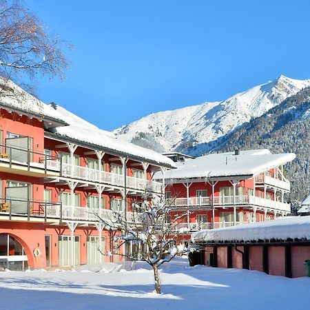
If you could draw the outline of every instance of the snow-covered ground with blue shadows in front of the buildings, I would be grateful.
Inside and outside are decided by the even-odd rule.
[[[0,273],[0,309],[309,309],[310,278],[258,271],[188,267],[178,258],[161,269],[162,295],[153,273],[139,263],[81,267],[78,271]],[[130,269],[131,266],[126,266]]]

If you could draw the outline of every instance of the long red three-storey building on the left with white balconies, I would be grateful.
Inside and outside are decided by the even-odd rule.
[[[152,176],[174,163],[31,100],[0,103],[0,269],[117,261],[98,251],[114,242],[99,216],[163,194]]]

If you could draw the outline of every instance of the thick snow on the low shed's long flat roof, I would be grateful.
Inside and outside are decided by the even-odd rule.
[[[192,234],[194,242],[310,239],[310,216],[266,220]]]

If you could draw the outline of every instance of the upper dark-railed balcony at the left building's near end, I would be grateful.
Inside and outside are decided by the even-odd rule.
[[[12,145],[0,145],[0,172],[26,176],[59,176],[61,164],[56,156],[33,152]]]

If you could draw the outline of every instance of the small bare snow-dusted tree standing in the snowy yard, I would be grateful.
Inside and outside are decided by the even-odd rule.
[[[178,229],[178,225],[187,213],[178,214],[170,220],[171,211],[171,203],[167,203],[164,197],[152,194],[151,199],[133,205],[132,212],[111,210],[110,216],[96,214],[107,229],[118,231],[114,236],[118,242],[114,243],[112,251],[101,253],[147,262],[154,271],[156,293],[161,293],[158,267],[177,255],[187,253],[186,247],[177,245],[178,237],[184,232]],[[122,253],[123,245],[125,251]]]

